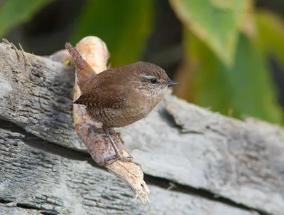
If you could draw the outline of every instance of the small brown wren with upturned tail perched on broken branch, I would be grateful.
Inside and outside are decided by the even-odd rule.
[[[168,86],[180,83],[170,80],[158,65],[141,61],[96,74],[70,43],[66,43],[65,47],[75,62],[82,93],[74,103],[85,105],[89,115],[102,122],[102,128],[116,152],[115,158],[133,162],[132,157],[122,156],[116,147],[111,138],[113,128],[131,125],[146,117],[163,99]],[[78,73],[78,70],[83,71]],[[85,81],[80,80],[80,75],[84,75],[82,79]]]

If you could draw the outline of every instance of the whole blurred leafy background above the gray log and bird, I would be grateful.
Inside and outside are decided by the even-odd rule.
[[[111,66],[160,65],[175,95],[284,124],[283,0],[0,0],[0,38],[37,55],[99,36]]]

